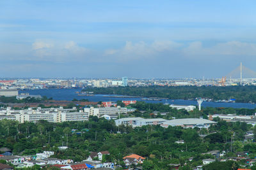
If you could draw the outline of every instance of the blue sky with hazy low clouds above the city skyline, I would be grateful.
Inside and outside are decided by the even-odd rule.
[[[1,0],[0,78],[220,78],[240,62],[256,71],[255,9],[254,0]]]

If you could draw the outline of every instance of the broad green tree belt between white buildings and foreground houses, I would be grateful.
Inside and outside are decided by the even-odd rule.
[[[111,155],[105,161],[119,162],[129,153],[147,157],[144,169],[170,169],[168,164],[186,164],[183,169],[202,164],[202,159],[214,159],[212,155],[202,155],[211,150],[225,150],[229,155],[237,151],[252,152],[255,157],[256,143],[244,143],[244,134],[252,128],[239,122],[219,121],[207,131],[206,129],[182,129],[182,127],[163,128],[159,125],[116,127],[113,121],[104,118],[90,117],[89,122],[49,123],[40,121],[36,124],[1,120],[0,147],[7,147],[14,154],[33,155],[43,150],[55,152],[53,157],[81,161],[89,152],[108,150]],[[73,129],[73,130],[72,130]],[[74,130],[76,129],[76,130]],[[120,131],[120,133],[118,133]],[[207,135],[204,139],[200,134]],[[184,144],[175,141],[183,139]],[[232,141],[232,143],[231,143]],[[58,146],[68,149],[61,151]],[[227,154],[227,155],[228,155]],[[189,161],[189,157],[193,157]],[[224,164],[224,163],[223,163]],[[233,164],[222,163],[222,166]],[[238,165],[237,165],[238,167]],[[210,166],[207,169],[211,169]]]

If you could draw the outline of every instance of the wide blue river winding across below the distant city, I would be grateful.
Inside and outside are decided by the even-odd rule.
[[[77,96],[76,92],[81,91],[81,89],[38,89],[38,90],[22,90],[20,93],[28,92],[29,94],[39,94],[41,96],[52,97],[54,100],[65,100],[72,101],[72,99],[88,99],[89,101],[143,101],[141,98],[126,98],[126,97],[111,97],[117,95],[103,95],[96,94],[95,96]],[[104,97],[109,96],[109,97]],[[121,95],[120,95],[121,96]],[[163,99],[162,101],[145,101],[147,103],[169,103],[169,104],[184,104],[184,105],[194,105],[196,106],[196,101],[187,101],[182,99]],[[223,108],[256,108],[256,104],[250,103],[214,103],[214,102],[204,102],[202,107],[223,107]]]

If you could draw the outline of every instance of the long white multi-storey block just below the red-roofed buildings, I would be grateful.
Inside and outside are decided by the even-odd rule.
[[[89,113],[89,115],[101,117],[102,115],[117,115],[121,113],[127,113],[127,108],[109,107],[109,108],[84,108],[84,112]]]

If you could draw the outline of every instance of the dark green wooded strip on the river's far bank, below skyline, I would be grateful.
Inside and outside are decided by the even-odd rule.
[[[122,94],[141,97],[167,97],[169,99],[195,99],[207,97],[213,100],[235,98],[237,102],[256,103],[256,86],[228,86],[228,87],[107,87],[86,89],[95,94]]]

